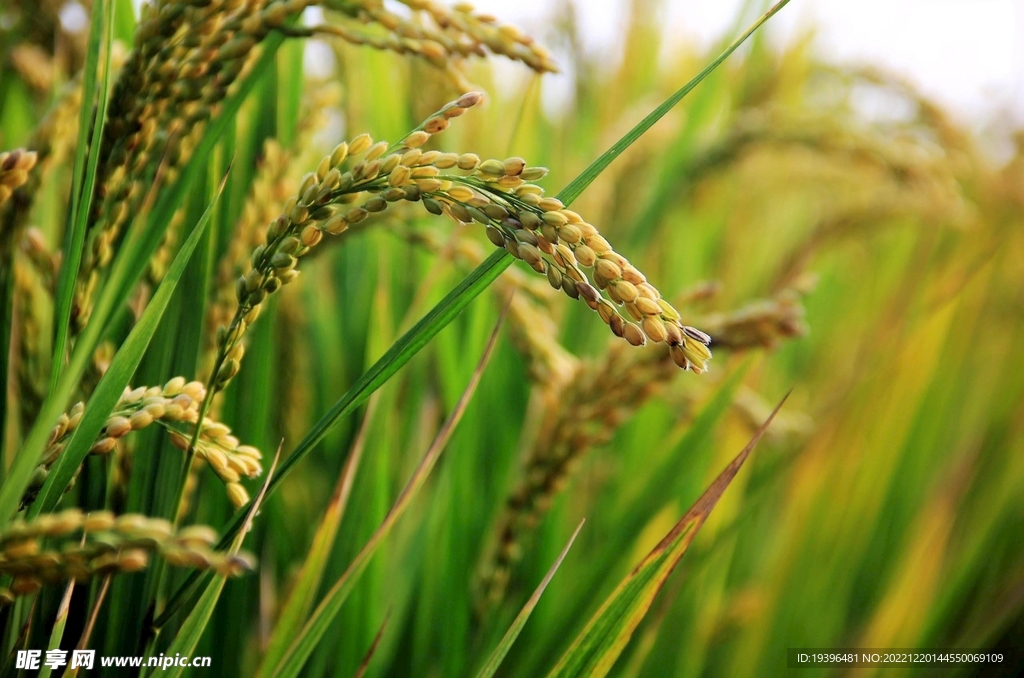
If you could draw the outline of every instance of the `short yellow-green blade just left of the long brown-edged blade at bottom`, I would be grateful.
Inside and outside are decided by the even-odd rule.
[[[355,472],[359,468],[359,461],[362,459],[362,451],[366,448],[367,433],[373,421],[376,411],[375,402],[377,398],[371,398],[370,406],[362,417],[362,425],[352,442],[352,449],[348,453],[345,465],[342,467],[338,482],[335,485],[331,502],[324,512],[324,518],[316,527],[313,535],[312,545],[309,554],[302,563],[302,570],[299,573],[298,581],[288,596],[278,623],[273,627],[273,634],[267,644],[266,652],[263,654],[263,663],[276,666],[281,658],[288,651],[295,634],[302,628],[310,607],[313,604],[313,596],[319,587],[324,576],[324,569],[328,564],[334,547],[335,538],[338,535],[338,527],[341,519],[345,515],[345,507],[352,494],[352,484],[355,481]]]

